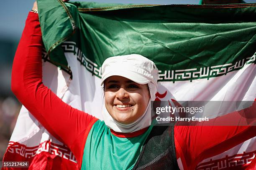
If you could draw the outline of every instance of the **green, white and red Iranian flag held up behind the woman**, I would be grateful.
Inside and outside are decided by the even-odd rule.
[[[72,107],[102,119],[101,65],[133,53],[159,68],[156,100],[255,100],[256,4],[37,2],[46,48],[43,81]],[[196,169],[252,170],[255,154],[256,137],[201,160]],[[4,161],[29,161],[28,169],[79,169],[69,148],[25,107]]]

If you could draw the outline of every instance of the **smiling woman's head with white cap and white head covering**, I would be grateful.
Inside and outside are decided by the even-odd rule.
[[[158,69],[138,54],[109,57],[102,64],[103,119],[112,130],[132,133],[151,125],[150,102],[155,99]]]

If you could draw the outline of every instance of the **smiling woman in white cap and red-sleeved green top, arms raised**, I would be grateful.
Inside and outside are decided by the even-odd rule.
[[[38,14],[31,12],[13,61],[12,90],[33,116],[70,148],[79,169],[178,170],[180,158],[181,169],[194,170],[205,158],[256,135],[255,126],[151,124],[150,104],[155,100],[158,69],[153,61],[138,54],[104,61],[103,121],[74,109],[42,82],[41,36]],[[254,102],[249,108],[217,117],[209,124],[232,120],[255,125],[255,107]],[[59,169],[63,168],[68,169]]]

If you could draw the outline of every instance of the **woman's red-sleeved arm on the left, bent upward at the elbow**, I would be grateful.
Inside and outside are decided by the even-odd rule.
[[[11,89],[32,115],[72,150],[80,164],[84,134],[97,119],[67,105],[42,83],[42,46],[38,14],[30,12],[13,61]]]

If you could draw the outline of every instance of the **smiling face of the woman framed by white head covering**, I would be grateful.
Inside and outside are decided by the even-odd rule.
[[[130,124],[146,111],[150,94],[148,85],[128,78],[111,76],[104,81],[105,107],[118,122]]]

